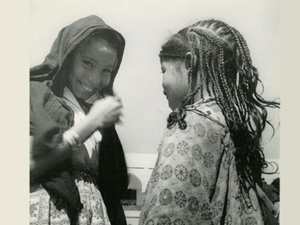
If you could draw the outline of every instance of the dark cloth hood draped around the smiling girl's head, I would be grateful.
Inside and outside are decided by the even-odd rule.
[[[119,43],[117,49],[118,61],[110,83],[101,90],[103,93],[112,94],[113,82],[123,57],[125,40],[119,32],[108,26],[100,17],[95,15],[81,18],[61,29],[44,62],[30,68],[30,80],[52,80],[52,91],[55,95],[61,97],[66,84],[66,74],[63,73],[62,68],[67,56],[83,39],[90,35],[91,32],[98,29],[110,32],[116,37]]]

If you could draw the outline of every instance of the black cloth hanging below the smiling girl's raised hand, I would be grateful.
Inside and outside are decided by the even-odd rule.
[[[98,187],[107,208],[110,223],[112,225],[126,224],[120,201],[128,186],[128,176],[123,149],[115,128],[104,130],[100,149]]]

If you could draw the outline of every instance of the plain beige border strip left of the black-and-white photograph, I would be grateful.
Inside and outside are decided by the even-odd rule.
[[[29,217],[29,2],[1,4],[1,224]]]

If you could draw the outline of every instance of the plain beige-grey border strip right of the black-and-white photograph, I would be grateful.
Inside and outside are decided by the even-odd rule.
[[[300,154],[298,144],[299,123],[299,3],[280,1],[281,67],[280,89],[280,219],[281,224],[299,223],[299,179]]]

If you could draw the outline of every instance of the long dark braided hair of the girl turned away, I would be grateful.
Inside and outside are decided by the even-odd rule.
[[[228,24],[214,19],[196,22],[167,41],[159,56],[162,60],[183,61],[187,52],[191,52],[188,92],[179,108],[169,115],[168,127],[179,122],[180,129],[186,128],[185,107],[193,103],[196,93],[203,97],[205,83],[206,92],[216,99],[226,120],[236,148],[241,190],[249,197],[250,188],[256,191],[256,184],[261,185],[262,169],[267,167],[262,131],[266,124],[273,126],[267,121],[266,108],[279,108],[280,103],[266,101],[256,92],[260,80],[246,41]],[[197,87],[192,85],[195,79],[200,80]]]

